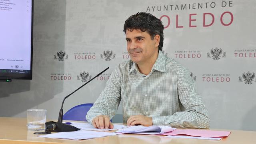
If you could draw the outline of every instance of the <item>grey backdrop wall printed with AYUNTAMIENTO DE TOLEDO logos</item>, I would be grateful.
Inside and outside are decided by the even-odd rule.
[[[130,59],[124,21],[136,12],[149,12],[165,26],[164,53],[190,69],[209,110],[210,128],[256,130],[255,0],[66,0],[65,12],[56,9],[63,1],[52,2],[35,0],[31,82],[47,86],[43,92],[40,85],[30,86],[40,90],[34,101],[45,94],[51,98],[34,106],[46,108],[48,118],[57,118],[64,96],[110,67],[68,98],[64,112],[95,102],[115,66]],[[25,95],[31,93],[1,98],[1,107],[10,104],[11,96],[31,102]],[[10,115],[26,116],[32,106],[19,108],[23,112]]]

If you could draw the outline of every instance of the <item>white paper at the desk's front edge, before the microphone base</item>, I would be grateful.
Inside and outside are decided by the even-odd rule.
[[[100,138],[104,136],[114,136],[117,133],[114,132],[96,132],[91,130],[78,130],[74,132],[58,132],[54,134],[47,134],[38,137],[44,138],[64,138],[64,139],[71,139],[71,140],[85,140],[90,138]]]

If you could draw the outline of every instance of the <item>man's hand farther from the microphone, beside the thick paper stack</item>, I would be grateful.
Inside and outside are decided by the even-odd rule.
[[[142,126],[152,126],[152,118],[142,115],[137,116],[130,116],[127,120],[127,126],[134,126],[134,125],[142,125]]]

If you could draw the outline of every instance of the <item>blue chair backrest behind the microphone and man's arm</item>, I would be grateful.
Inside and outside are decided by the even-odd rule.
[[[90,103],[74,106],[63,115],[63,120],[87,121],[85,117],[92,106]]]

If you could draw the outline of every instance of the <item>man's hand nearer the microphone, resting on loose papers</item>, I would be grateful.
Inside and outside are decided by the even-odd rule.
[[[100,129],[113,129],[114,125],[110,122],[110,118],[105,115],[96,116],[92,120],[92,125],[94,128],[100,128]]]

